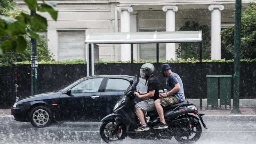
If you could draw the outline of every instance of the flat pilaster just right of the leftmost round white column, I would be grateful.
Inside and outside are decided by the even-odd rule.
[[[130,18],[131,18],[130,32],[137,32],[137,14],[138,12],[130,13]],[[138,61],[137,45],[138,44],[133,44],[133,59],[135,59],[136,61]]]

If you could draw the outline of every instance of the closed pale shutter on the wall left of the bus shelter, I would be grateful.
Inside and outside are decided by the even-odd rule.
[[[58,31],[58,60],[85,59],[85,31]]]

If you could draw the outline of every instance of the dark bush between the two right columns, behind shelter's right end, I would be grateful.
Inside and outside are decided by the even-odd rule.
[[[199,23],[185,22],[185,25],[182,26],[179,31],[199,31],[202,30],[202,59],[209,59],[211,54],[211,45],[210,45],[210,28],[207,25],[199,25]],[[176,50],[176,55],[178,58],[188,59],[188,58],[200,58],[199,53],[199,43],[180,43],[179,48]]]

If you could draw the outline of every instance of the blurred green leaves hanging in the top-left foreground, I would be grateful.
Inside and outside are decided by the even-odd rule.
[[[57,20],[58,11],[53,7],[56,3],[45,2],[37,4],[36,0],[24,0],[30,10],[36,9],[39,12],[48,12],[54,20]],[[27,40],[25,36],[30,38],[39,38],[38,32],[47,29],[47,20],[39,14],[29,15],[25,12],[20,12],[12,18],[7,14],[8,10],[14,10],[15,4],[13,0],[3,0],[1,7],[5,10],[0,15],[0,56],[3,56],[8,50],[16,50],[22,53],[27,48]]]

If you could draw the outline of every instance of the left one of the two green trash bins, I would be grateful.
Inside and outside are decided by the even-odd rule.
[[[218,106],[218,78],[219,75],[206,75],[207,78],[207,107]]]

